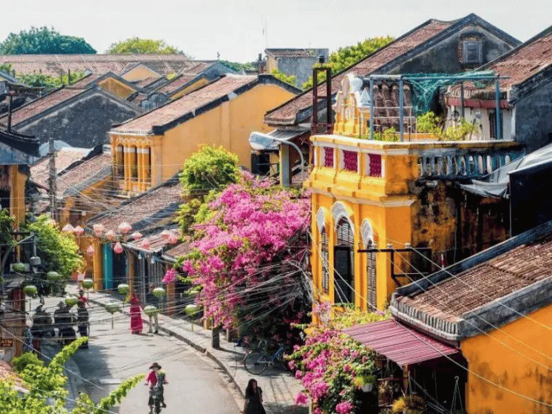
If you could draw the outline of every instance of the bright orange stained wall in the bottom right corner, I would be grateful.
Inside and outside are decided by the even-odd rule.
[[[500,331],[489,332],[489,336],[478,335],[460,344],[471,371],[466,386],[469,414],[552,413],[550,406],[531,402],[477,377],[552,405],[552,371],[546,368],[552,366],[552,305],[529,317],[536,323],[522,317]]]

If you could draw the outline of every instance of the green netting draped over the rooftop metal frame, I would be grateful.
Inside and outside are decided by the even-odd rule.
[[[412,106],[415,115],[422,115],[430,110],[431,101],[437,89],[462,81],[473,81],[476,87],[489,86],[489,80],[495,77],[491,70],[462,72],[451,75],[450,73],[405,73],[402,75],[404,82],[410,84],[413,89]]]

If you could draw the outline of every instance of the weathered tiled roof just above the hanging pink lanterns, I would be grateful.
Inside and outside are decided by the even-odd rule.
[[[129,199],[110,213],[103,213],[88,221],[87,226],[103,224],[106,230],[117,232],[122,221],[132,230],[144,230],[161,224],[170,224],[181,204],[181,186],[177,179],[166,181],[147,193]]]

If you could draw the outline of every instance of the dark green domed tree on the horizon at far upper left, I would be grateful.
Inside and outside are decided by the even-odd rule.
[[[94,54],[96,50],[82,37],[59,34],[54,28],[46,26],[30,30],[21,30],[19,33],[10,33],[6,40],[0,43],[2,55],[41,55],[70,53]]]

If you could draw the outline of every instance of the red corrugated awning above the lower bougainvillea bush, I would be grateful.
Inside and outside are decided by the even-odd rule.
[[[353,326],[343,333],[400,366],[460,353],[457,348],[407,328],[395,319]]]

